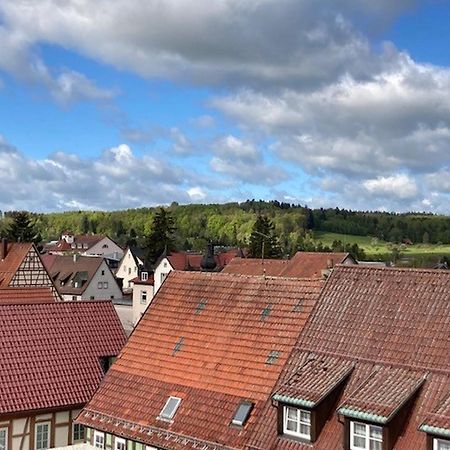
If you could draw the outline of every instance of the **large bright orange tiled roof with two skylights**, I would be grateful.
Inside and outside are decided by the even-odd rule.
[[[183,436],[242,448],[321,287],[171,272],[78,421],[163,448],[186,448]],[[169,396],[182,399],[171,423],[158,420]],[[254,403],[247,426],[230,426],[243,400]]]

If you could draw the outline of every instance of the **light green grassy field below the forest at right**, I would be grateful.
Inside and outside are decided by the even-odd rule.
[[[333,241],[342,241],[345,244],[358,244],[366,252],[369,258],[378,259],[391,253],[392,245],[390,242],[381,241],[370,236],[354,236],[349,234],[327,233],[316,231],[314,239],[325,245],[331,245]],[[437,244],[413,244],[401,246],[401,253],[405,258],[418,259],[439,259],[440,256],[450,256],[450,245]]]

